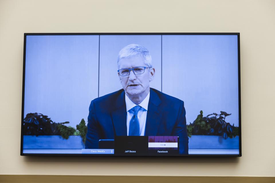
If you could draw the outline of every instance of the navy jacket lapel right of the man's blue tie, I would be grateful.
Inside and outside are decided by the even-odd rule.
[[[156,136],[160,125],[162,114],[159,112],[161,101],[156,92],[150,89],[150,98],[146,117],[146,136]]]

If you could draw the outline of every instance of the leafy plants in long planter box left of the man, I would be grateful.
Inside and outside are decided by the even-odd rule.
[[[87,126],[82,119],[76,128],[56,123],[41,113],[29,113],[23,123],[23,149],[83,149]]]

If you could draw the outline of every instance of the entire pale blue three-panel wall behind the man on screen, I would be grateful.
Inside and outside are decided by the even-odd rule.
[[[235,35],[27,36],[24,116],[87,122],[91,100],[121,89],[117,55],[131,43],[148,48],[156,68],[150,87],[183,100],[187,123],[200,110],[222,110],[238,126]]]

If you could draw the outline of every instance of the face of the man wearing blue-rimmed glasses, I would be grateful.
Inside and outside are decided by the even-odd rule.
[[[134,67],[148,67],[141,56],[133,56],[119,60],[119,69],[132,69]],[[135,75],[130,71],[128,76],[120,76],[120,83],[128,95],[142,95],[149,90],[149,83],[154,79],[155,69],[145,69],[143,74]]]

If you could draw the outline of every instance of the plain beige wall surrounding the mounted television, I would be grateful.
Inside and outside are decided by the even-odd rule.
[[[240,32],[243,156],[20,156],[23,33],[44,32]],[[275,176],[274,50],[275,1],[0,0],[0,174]]]

